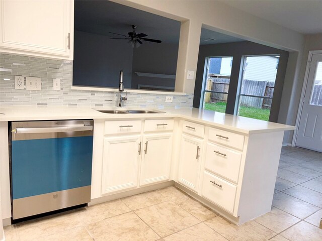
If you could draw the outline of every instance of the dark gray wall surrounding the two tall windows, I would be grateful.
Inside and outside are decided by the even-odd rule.
[[[278,121],[278,113],[282,97],[282,90],[285,78],[289,52],[280,49],[268,47],[253,42],[235,42],[227,44],[201,45],[199,48],[198,65],[196,72],[196,84],[194,90],[193,107],[199,108],[203,74],[206,57],[232,56],[232,67],[229,84],[229,94],[227,99],[226,113],[233,114],[236,102],[236,93],[238,89],[238,79],[241,74],[241,59],[245,55],[272,55],[279,54],[279,67],[276,74],[275,89],[270,113],[270,122]]]

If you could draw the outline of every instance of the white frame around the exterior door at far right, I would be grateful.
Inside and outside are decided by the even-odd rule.
[[[297,116],[296,116],[296,122],[295,122],[296,129],[294,130],[294,134],[293,134],[292,147],[295,147],[295,143],[296,143],[296,139],[297,139],[297,132],[298,132],[300,118],[301,118],[301,114],[302,114],[302,109],[303,109],[303,104],[304,104],[304,95],[305,95],[305,90],[307,87],[308,74],[310,72],[310,65],[311,65],[311,60],[312,60],[313,54],[322,54],[322,50],[308,51],[308,58],[307,58],[307,62],[306,62],[306,69],[305,69],[304,81],[303,81],[303,86],[302,86],[302,91],[301,91],[300,104],[299,104],[299,107],[297,110]]]

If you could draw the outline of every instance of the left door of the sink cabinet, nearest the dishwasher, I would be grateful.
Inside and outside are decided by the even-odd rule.
[[[102,194],[137,186],[140,136],[105,138]]]

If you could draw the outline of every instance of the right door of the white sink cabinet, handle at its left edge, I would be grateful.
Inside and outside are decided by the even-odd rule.
[[[169,180],[171,157],[172,133],[145,135],[140,185]]]

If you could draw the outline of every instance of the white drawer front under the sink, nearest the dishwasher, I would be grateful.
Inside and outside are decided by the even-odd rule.
[[[141,121],[105,122],[104,135],[141,132]]]

